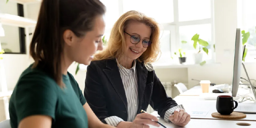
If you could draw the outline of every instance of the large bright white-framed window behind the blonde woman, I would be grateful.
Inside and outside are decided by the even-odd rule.
[[[188,61],[193,63],[193,47],[191,38],[196,33],[209,43],[208,55],[204,53],[204,60],[211,60],[213,53],[213,20],[212,0],[100,0],[107,7],[106,39],[116,20],[125,12],[136,10],[154,18],[160,23],[161,58],[159,61],[171,60],[174,52],[179,48],[184,52]],[[187,41],[182,44],[181,41]],[[191,53],[191,54],[190,54]],[[178,61],[177,61],[178,62]]]

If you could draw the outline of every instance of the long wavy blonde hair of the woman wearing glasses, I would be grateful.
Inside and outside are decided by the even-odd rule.
[[[152,43],[148,46],[147,50],[137,58],[137,60],[143,62],[144,66],[149,71],[153,70],[151,63],[155,62],[158,54],[161,53],[159,46],[160,29],[153,18],[147,17],[145,14],[138,11],[126,12],[116,21],[111,30],[107,48],[97,53],[93,60],[117,58],[117,61],[120,62],[121,57],[124,55],[124,50],[126,49],[124,30],[131,21],[144,23],[151,28],[150,40]]]

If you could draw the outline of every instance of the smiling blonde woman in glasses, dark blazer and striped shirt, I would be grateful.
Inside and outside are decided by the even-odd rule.
[[[160,126],[140,110],[152,106],[166,122],[185,126],[190,115],[166,95],[150,63],[159,50],[159,27],[137,11],[124,13],[112,28],[107,48],[87,68],[84,96],[98,118],[118,128]]]

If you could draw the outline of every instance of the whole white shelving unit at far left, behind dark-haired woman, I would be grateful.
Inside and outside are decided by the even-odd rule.
[[[9,2],[14,2],[17,4],[23,4],[24,6],[24,13],[26,16],[26,5],[36,2],[41,2],[41,0],[9,0]],[[9,3],[8,2],[8,3]],[[7,4],[8,4],[7,3]],[[1,11],[1,9],[0,9]],[[22,27],[25,28],[25,34],[29,35],[28,29],[31,27],[36,26],[36,20],[20,17],[17,15],[11,15],[6,13],[0,13],[0,24],[3,25],[9,25],[9,26],[15,26],[15,27]],[[5,35],[6,36],[6,35]],[[26,36],[26,44],[29,44],[29,36]],[[0,50],[1,50],[1,43],[0,43]],[[6,59],[6,58],[4,58]],[[5,118],[10,119],[9,116],[9,98],[12,95],[12,91],[7,89],[7,82],[5,77],[5,70],[4,70],[4,59],[0,60],[0,83],[1,83],[1,89],[2,92],[0,92],[0,100],[4,101],[4,112],[5,112]]]

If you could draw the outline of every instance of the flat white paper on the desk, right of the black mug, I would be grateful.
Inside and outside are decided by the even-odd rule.
[[[235,112],[256,113],[256,103],[238,103]]]

